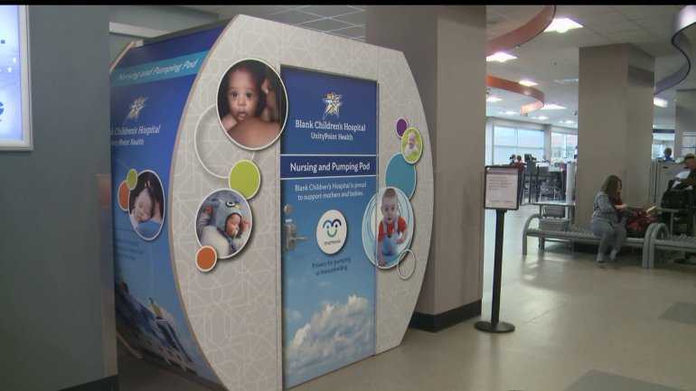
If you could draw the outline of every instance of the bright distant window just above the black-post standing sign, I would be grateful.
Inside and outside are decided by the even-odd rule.
[[[544,132],[512,126],[493,126],[493,163],[510,163],[510,155],[544,157]]]

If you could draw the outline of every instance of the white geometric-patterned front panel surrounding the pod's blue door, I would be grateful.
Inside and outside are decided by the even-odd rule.
[[[394,133],[397,119],[408,118],[423,136],[426,147],[417,164],[419,182],[411,200],[416,219],[411,248],[418,262],[407,281],[402,281],[394,268],[377,271],[378,353],[400,344],[418,300],[432,227],[432,157],[418,89],[399,51],[243,15],[233,19],[221,34],[194,84],[174,149],[170,216],[175,275],[193,333],[224,386],[230,390],[279,390],[279,142],[256,153],[237,147],[222,133],[214,108],[222,74],[233,62],[245,58],[267,61],[276,70],[284,64],[378,80],[380,187],[384,185],[386,163],[400,148]],[[212,172],[226,175],[233,163],[250,159],[259,165],[262,177],[261,190],[249,201],[254,219],[249,243],[240,255],[221,260],[208,274],[199,272],[194,264],[198,244],[193,220],[203,198],[227,187],[227,182],[204,171],[194,142]],[[409,256],[403,271],[409,272],[412,267],[413,258]]]

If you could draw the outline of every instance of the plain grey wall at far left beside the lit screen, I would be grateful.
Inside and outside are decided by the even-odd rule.
[[[116,371],[95,177],[110,172],[108,8],[29,12],[34,150],[0,152],[0,389],[43,391]]]

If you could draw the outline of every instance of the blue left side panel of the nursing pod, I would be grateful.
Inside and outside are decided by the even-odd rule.
[[[222,28],[130,49],[111,73],[111,177],[119,332],[173,370],[221,382],[203,358],[177,292],[170,169],[183,108]],[[163,93],[162,91],[166,91]],[[138,211],[140,205],[146,205]]]

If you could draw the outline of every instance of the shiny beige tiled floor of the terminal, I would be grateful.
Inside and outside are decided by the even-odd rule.
[[[696,390],[696,266],[640,267],[639,253],[599,268],[594,256],[530,239],[508,212],[501,320],[490,335],[466,321],[432,334],[409,330],[399,348],[294,388],[310,390]],[[486,215],[484,319],[490,317],[494,213]],[[148,364],[122,360],[123,391],[202,390]],[[589,386],[589,388],[588,388]]]

